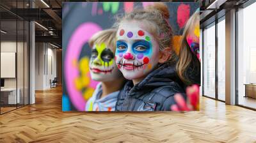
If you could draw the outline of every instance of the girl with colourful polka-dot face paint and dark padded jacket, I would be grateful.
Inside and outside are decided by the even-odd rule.
[[[115,60],[124,77],[132,81],[119,94],[116,110],[170,110],[176,105],[175,93],[186,100],[183,85],[178,84],[182,82],[176,70],[179,59],[172,49],[168,18],[168,7],[154,3],[117,20]]]

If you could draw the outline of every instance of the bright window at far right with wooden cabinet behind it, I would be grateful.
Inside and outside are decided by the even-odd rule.
[[[256,3],[237,11],[237,104],[256,110]]]

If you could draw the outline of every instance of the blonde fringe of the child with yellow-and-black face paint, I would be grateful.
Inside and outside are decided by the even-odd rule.
[[[94,44],[105,43],[114,52],[116,50],[116,29],[106,29],[93,34],[89,40],[89,46],[93,47]]]

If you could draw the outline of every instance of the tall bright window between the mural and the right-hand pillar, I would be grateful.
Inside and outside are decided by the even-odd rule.
[[[225,16],[202,29],[202,94],[225,102]]]

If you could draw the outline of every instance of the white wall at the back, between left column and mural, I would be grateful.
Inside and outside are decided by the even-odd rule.
[[[35,47],[35,89],[49,89],[50,79],[56,77],[56,49],[49,43],[36,43]]]

